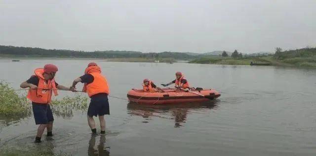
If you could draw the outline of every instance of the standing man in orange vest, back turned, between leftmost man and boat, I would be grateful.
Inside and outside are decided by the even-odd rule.
[[[101,134],[105,134],[104,115],[110,114],[108,94],[110,93],[107,79],[101,74],[101,68],[94,62],[88,64],[84,75],[75,79],[71,90],[76,92],[78,82],[84,83],[83,92],[91,98],[87,118],[93,134],[96,134],[96,127],[93,116],[99,116]]]

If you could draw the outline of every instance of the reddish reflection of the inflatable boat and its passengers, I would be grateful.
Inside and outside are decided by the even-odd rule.
[[[216,109],[216,101],[203,103],[182,103],[169,105],[143,105],[130,102],[127,104],[128,114],[140,116],[145,119],[143,123],[148,123],[151,118],[158,117],[174,121],[174,127],[183,126],[186,123],[188,114],[208,113],[210,109]]]

